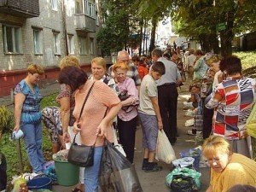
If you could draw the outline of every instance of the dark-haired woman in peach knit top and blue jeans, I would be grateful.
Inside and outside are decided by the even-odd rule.
[[[75,133],[80,132],[82,144],[92,146],[95,143],[94,165],[84,169],[84,189],[86,192],[96,192],[98,191],[98,175],[104,137],[113,142],[111,121],[119,112],[121,103],[118,96],[107,84],[101,81],[87,80],[84,71],[78,67],[65,67],[62,69],[59,82],[68,84],[71,90],[79,89],[75,93],[73,115],[76,121],[74,123],[74,131]],[[79,120],[84,98],[90,88],[90,95]],[[108,113],[105,116],[107,110]],[[67,133],[67,138],[68,135]]]

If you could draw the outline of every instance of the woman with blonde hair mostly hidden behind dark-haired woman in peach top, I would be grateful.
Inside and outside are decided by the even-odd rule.
[[[65,56],[61,59],[59,67],[62,70],[68,66],[79,68],[79,59],[73,55]],[[67,135],[67,131],[70,134],[73,133],[73,123],[75,121],[73,117],[73,108],[75,105],[74,90],[68,84],[61,84],[61,91],[56,97],[56,102],[60,104],[60,108],[47,107],[42,110],[43,122],[46,128],[49,129],[54,154],[60,150],[61,146],[65,148],[64,142],[70,140],[70,135]],[[73,137],[73,134],[71,136]],[[77,142],[80,143],[79,137]],[[70,143],[66,145],[69,148]],[[73,189],[73,192],[84,191],[84,168],[80,168],[80,183],[82,184]]]

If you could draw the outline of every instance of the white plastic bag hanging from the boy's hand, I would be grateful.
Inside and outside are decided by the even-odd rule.
[[[171,143],[166,137],[165,131],[158,131],[157,145],[155,151],[155,160],[163,161],[167,164],[172,163],[172,160],[176,160],[174,150]]]

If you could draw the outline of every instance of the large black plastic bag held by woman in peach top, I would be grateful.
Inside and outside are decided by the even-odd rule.
[[[103,192],[142,192],[137,172],[112,143],[103,148],[99,183]]]

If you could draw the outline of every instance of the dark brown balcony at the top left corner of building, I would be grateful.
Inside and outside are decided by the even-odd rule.
[[[0,13],[25,18],[39,16],[39,0],[0,0]]]

